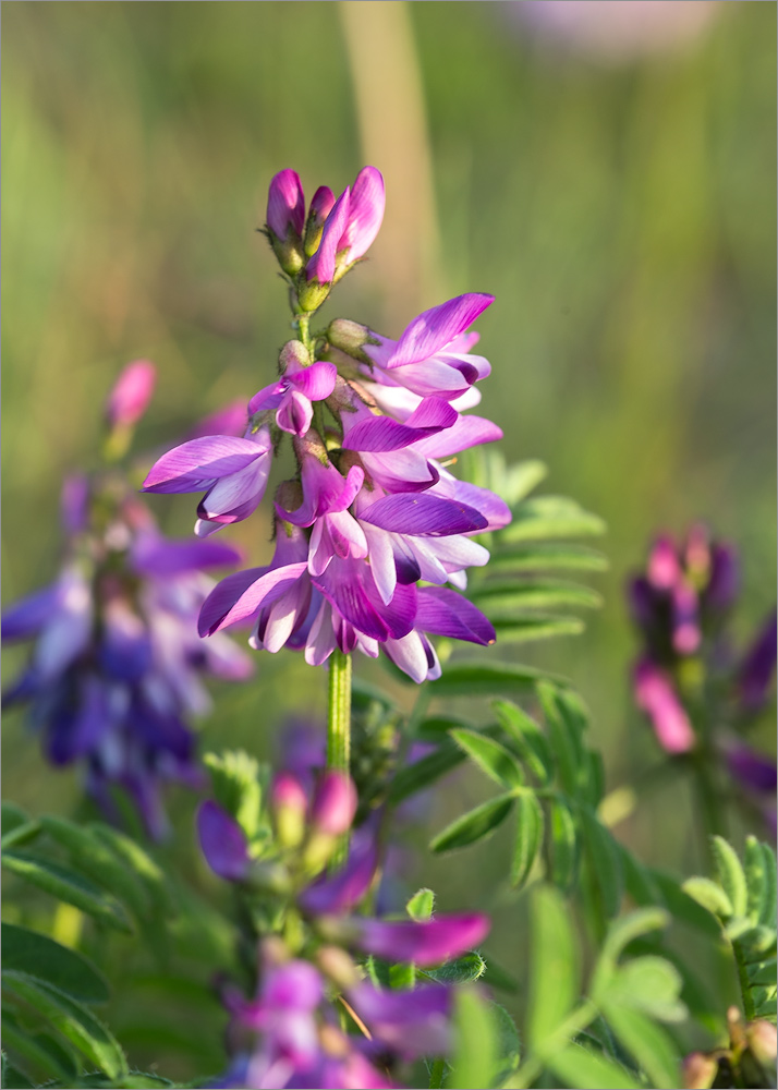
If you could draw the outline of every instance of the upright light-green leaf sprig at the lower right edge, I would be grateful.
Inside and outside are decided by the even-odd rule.
[[[744,862],[720,836],[712,837],[716,881],[695,876],[684,892],[719,921],[738,968],[745,1017],[776,1020],[776,857],[750,836]]]

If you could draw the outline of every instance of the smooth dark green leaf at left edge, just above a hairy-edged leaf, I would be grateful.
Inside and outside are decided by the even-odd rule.
[[[92,961],[48,935],[15,923],[2,924],[2,964],[4,969],[39,977],[84,1003],[106,1003],[109,998],[108,982]]]

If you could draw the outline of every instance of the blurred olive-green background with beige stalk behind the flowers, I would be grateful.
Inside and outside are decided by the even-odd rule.
[[[384,228],[327,317],[397,337],[450,295],[496,294],[483,414],[509,460],[542,459],[549,491],[605,518],[611,560],[586,635],[502,654],[573,679],[611,787],[656,761],[623,602],[652,534],[704,519],[740,547],[741,640],[775,601],[776,5],[14,0],[3,23],[3,601],[52,577],[62,473],[94,463],[124,363],[159,368],[136,451],[271,380],[290,335],[255,231],[272,174],[338,193],[372,162]],[[190,532],[194,497],[150,504]],[[266,508],[232,534],[253,564]],[[272,753],[284,715],[324,712],[323,675],[265,655],[217,693],[204,746]],[[34,812],[74,806],[75,775],[41,764],[16,713],[3,774]],[[430,828],[462,792],[482,786],[438,792]],[[192,804],[173,806],[187,840]],[[617,832],[688,870],[691,822],[672,785]],[[491,845],[425,860],[441,907],[487,896]],[[477,907],[510,946],[510,896]],[[519,947],[503,957],[519,973]]]

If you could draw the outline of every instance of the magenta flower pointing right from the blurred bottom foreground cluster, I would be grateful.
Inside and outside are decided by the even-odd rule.
[[[355,944],[368,954],[391,961],[438,965],[459,957],[483,942],[489,918],[481,912],[440,916],[417,923],[413,920],[354,920]]]

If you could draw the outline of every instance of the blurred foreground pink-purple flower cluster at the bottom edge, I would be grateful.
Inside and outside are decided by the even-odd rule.
[[[256,996],[224,992],[233,1062],[220,1087],[392,1087],[402,1064],[445,1055],[450,1046],[451,986],[427,979],[392,989],[363,959],[429,967],[478,944],[481,913],[427,920],[380,920],[356,909],[372,888],[378,850],[363,826],[345,865],[328,869],[337,839],[351,825],[356,792],[340,772],[324,773],[312,791],[290,773],[270,789],[278,850],[263,856],[218,803],[198,812],[204,855],[221,877],[267,904],[285,905],[285,940],[260,943]],[[295,925],[290,925],[291,921]]]

